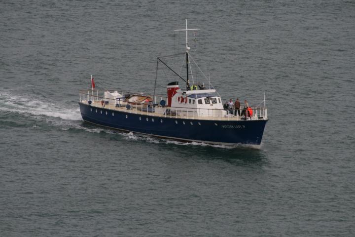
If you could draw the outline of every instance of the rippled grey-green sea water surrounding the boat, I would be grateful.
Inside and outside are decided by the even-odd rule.
[[[185,18],[223,99],[265,92],[260,150],[81,120],[90,75],[152,93]],[[0,23],[0,236],[355,235],[354,1],[1,0]]]

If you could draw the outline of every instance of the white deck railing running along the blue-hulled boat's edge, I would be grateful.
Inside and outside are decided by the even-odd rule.
[[[213,119],[213,120],[238,120],[238,119],[248,119],[248,120],[265,120],[268,118],[267,109],[260,106],[251,106],[252,115],[251,116],[234,116],[235,110],[233,110],[233,115],[229,114],[229,111],[222,112],[224,110],[220,109],[196,109],[196,108],[182,108],[182,107],[167,107],[160,105],[160,101],[167,101],[166,96],[156,95],[153,98],[153,103],[147,104],[134,104],[125,101],[124,96],[130,95],[142,95],[149,96],[142,93],[132,93],[126,91],[117,91],[122,95],[120,98],[111,99],[105,98],[104,92],[116,92],[117,90],[80,90],[79,98],[81,103],[87,103],[98,108],[109,108],[113,110],[124,109],[126,112],[134,114],[154,114],[154,116],[159,117],[169,117],[169,118],[189,118],[189,119]],[[159,101],[159,103],[157,103]],[[242,110],[240,110],[242,113]]]

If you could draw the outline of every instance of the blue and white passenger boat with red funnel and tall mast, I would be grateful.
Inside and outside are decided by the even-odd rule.
[[[187,19],[185,22],[185,29],[175,30],[186,33],[186,47],[181,53],[186,64],[185,77],[164,62],[163,56],[157,57],[157,71],[161,63],[178,78],[171,79],[173,81],[166,85],[165,95],[155,94],[157,76],[152,94],[95,89],[91,78],[91,89],[79,91],[82,119],[111,129],[183,142],[260,148],[268,121],[265,93],[258,106],[248,106],[243,116],[235,116],[223,108],[222,99],[213,87],[206,88],[204,84],[198,87],[194,81],[190,82],[190,60],[194,60],[188,45],[188,31],[200,29],[188,29]],[[179,87],[180,80],[183,81],[182,88]]]

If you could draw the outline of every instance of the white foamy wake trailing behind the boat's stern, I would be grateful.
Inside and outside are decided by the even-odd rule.
[[[17,96],[3,91],[0,91],[0,111],[65,120],[81,120],[78,107],[59,105],[50,101],[41,101],[26,95]]]

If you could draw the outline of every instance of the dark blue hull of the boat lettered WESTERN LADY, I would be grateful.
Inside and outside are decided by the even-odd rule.
[[[267,120],[204,120],[126,113],[79,103],[84,121],[181,141],[260,145]],[[107,114],[106,114],[107,113]]]

